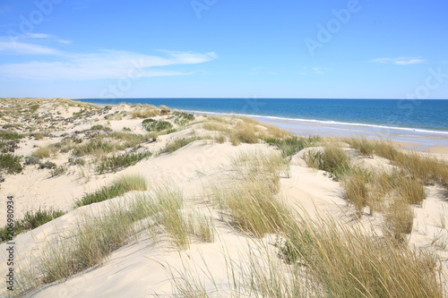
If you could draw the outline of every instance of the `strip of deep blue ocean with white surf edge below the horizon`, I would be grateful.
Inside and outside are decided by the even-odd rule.
[[[166,105],[194,112],[258,115],[272,120],[301,120],[380,128],[448,133],[446,99],[306,99],[306,98],[85,98],[99,105],[121,102]]]

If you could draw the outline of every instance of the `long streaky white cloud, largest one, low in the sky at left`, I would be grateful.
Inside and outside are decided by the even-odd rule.
[[[95,54],[66,54],[58,61],[0,65],[0,75],[32,80],[99,80],[123,77],[187,75],[153,69],[175,64],[201,64],[216,59],[211,53],[164,51],[165,56],[104,50]]]

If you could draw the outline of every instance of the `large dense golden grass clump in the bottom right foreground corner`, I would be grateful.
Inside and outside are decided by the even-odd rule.
[[[305,266],[306,285],[315,286],[316,296],[443,296],[433,255],[371,233],[330,219],[303,217],[284,235],[281,251],[294,266]]]

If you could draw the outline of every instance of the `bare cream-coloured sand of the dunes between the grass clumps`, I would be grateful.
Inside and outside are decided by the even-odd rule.
[[[11,99],[7,102],[8,106],[2,103],[4,105],[2,108],[13,109],[17,105],[37,104],[39,107],[33,113],[43,119],[41,123],[37,120],[24,121],[27,117],[33,118],[35,115],[33,113],[23,115],[13,113],[0,118],[0,123],[3,125],[15,123],[11,129],[16,132],[44,134],[42,138],[30,135],[20,139],[19,148],[14,152],[16,155],[30,156],[39,147],[60,144],[61,141],[66,140],[65,138],[80,136],[83,139],[81,143],[70,143],[76,149],[76,146],[90,140],[89,133],[97,133],[90,130],[93,125],[110,127],[111,132],[129,132],[139,135],[147,133],[142,127],[142,119],[149,116],[142,118],[133,116],[133,111],[142,107],[120,105],[97,109],[92,106],[76,106],[63,100],[46,101],[46,99],[40,101]],[[80,111],[84,112],[75,115]],[[83,115],[86,113],[90,114]],[[46,115],[46,118],[42,118],[43,115]],[[208,117],[197,116],[194,121],[182,124],[176,123],[173,118],[170,118],[171,115],[152,115],[152,117],[172,123],[177,131],[169,134],[160,132],[132,147],[116,149],[98,157],[95,157],[96,153],[79,157],[84,159],[84,165],[70,164],[68,160],[73,158],[73,149],[64,150],[63,144],[58,148],[58,152],[41,159],[41,162],[51,160],[56,166],[65,166],[65,173],[62,175],[52,176],[52,169],[39,169],[38,165],[24,166],[21,174],[3,174],[4,182],[0,183],[0,191],[4,197],[2,200],[5,200],[7,195],[14,196],[14,217],[22,218],[27,211],[39,208],[61,209],[66,212],[62,217],[57,217],[43,226],[14,238],[13,268],[17,278],[15,281],[19,283],[20,274],[27,272],[27,266],[34,272],[40,272],[38,260],[41,251],[47,245],[58,241],[69,243],[68,238],[73,236],[73,231],[80,221],[104,216],[114,206],[120,209],[132,206],[133,202],[143,194],[153,196],[157,192],[155,186],[170,185],[182,192],[184,200],[182,214],[196,212],[194,217],[203,215],[211,218],[214,226],[214,241],[206,243],[190,235],[190,244],[184,249],[179,249],[167,234],[149,225],[145,222],[146,219],[142,219],[135,224],[137,225],[135,232],[129,235],[129,241],[113,251],[98,266],[87,268],[73,277],[50,284],[39,282],[38,286],[21,295],[29,297],[186,296],[179,294],[179,288],[182,286],[177,285],[176,282],[182,284],[185,280],[195,280],[197,287],[190,289],[191,297],[206,296],[200,295],[202,291],[210,297],[252,296],[254,293],[251,294],[251,289],[243,286],[245,284],[243,280],[247,276],[246,270],[251,268],[251,255],[261,260],[261,263],[265,260],[275,260],[280,264],[281,270],[289,270],[290,265],[279,258],[279,238],[275,234],[254,237],[238,229],[237,226],[230,225],[227,212],[211,200],[210,194],[213,187],[226,189],[236,187],[237,158],[241,159],[242,155],[247,158],[257,157],[259,154],[279,154],[279,149],[264,141],[257,143],[242,141],[238,146],[234,146],[231,137],[226,137],[221,142],[218,140],[220,132],[202,128],[203,121],[206,121]],[[55,119],[64,120],[58,121],[54,127],[51,127],[49,123]],[[239,121],[235,118],[227,119],[228,123]],[[240,125],[243,125],[242,123],[244,122]],[[230,131],[237,130],[237,127],[231,128]],[[257,129],[259,130],[257,133],[269,131],[263,125]],[[102,130],[100,128],[98,133],[108,133]],[[193,140],[171,153],[159,153],[174,140],[193,136],[202,140]],[[157,140],[153,141],[152,138]],[[375,212],[373,216],[370,216],[366,208],[362,217],[358,219],[352,204],[344,199],[342,184],[332,179],[323,170],[307,166],[306,154],[310,150],[318,150],[316,146],[302,149],[290,158],[289,169],[279,174],[279,191],[275,196],[284,200],[288,209],[295,210],[298,214],[306,213],[306,217],[332,217],[342,226],[359,228],[366,231],[366,234],[369,234],[373,227],[378,234],[382,234],[384,226],[382,212]],[[153,155],[134,165],[119,167],[110,173],[103,174],[98,174],[95,169],[100,160],[111,155],[145,150],[153,152]],[[386,158],[359,156],[354,149],[346,148],[346,150],[353,155],[354,164],[370,171],[394,167]],[[441,152],[440,148],[437,150],[438,153],[447,153]],[[71,162],[73,163],[73,160]],[[74,208],[74,203],[85,193],[98,191],[101,187],[114,183],[117,177],[125,175],[142,175],[148,184],[148,190],[126,192],[113,199]],[[426,186],[426,192],[427,197],[422,205],[412,206],[414,224],[406,239],[412,250],[432,251],[440,260],[446,260],[448,257],[448,234],[445,226],[448,213],[446,192],[440,183]],[[3,203],[2,206],[4,206]],[[6,213],[7,209],[2,207],[0,226],[6,224]],[[8,245],[7,243],[0,244],[0,251],[2,251],[0,275],[2,276],[10,268],[6,266],[8,256],[5,250]],[[439,283],[446,288],[448,268],[445,261],[440,264],[440,272],[443,275]],[[39,274],[36,278],[39,278]],[[2,294],[19,293],[19,289],[15,292],[7,291],[5,285],[2,286],[2,291]],[[196,291],[195,294],[194,291]]]

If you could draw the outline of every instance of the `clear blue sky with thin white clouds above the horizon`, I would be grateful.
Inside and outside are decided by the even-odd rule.
[[[0,97],[448,98],[448,2],[0,1]]]

